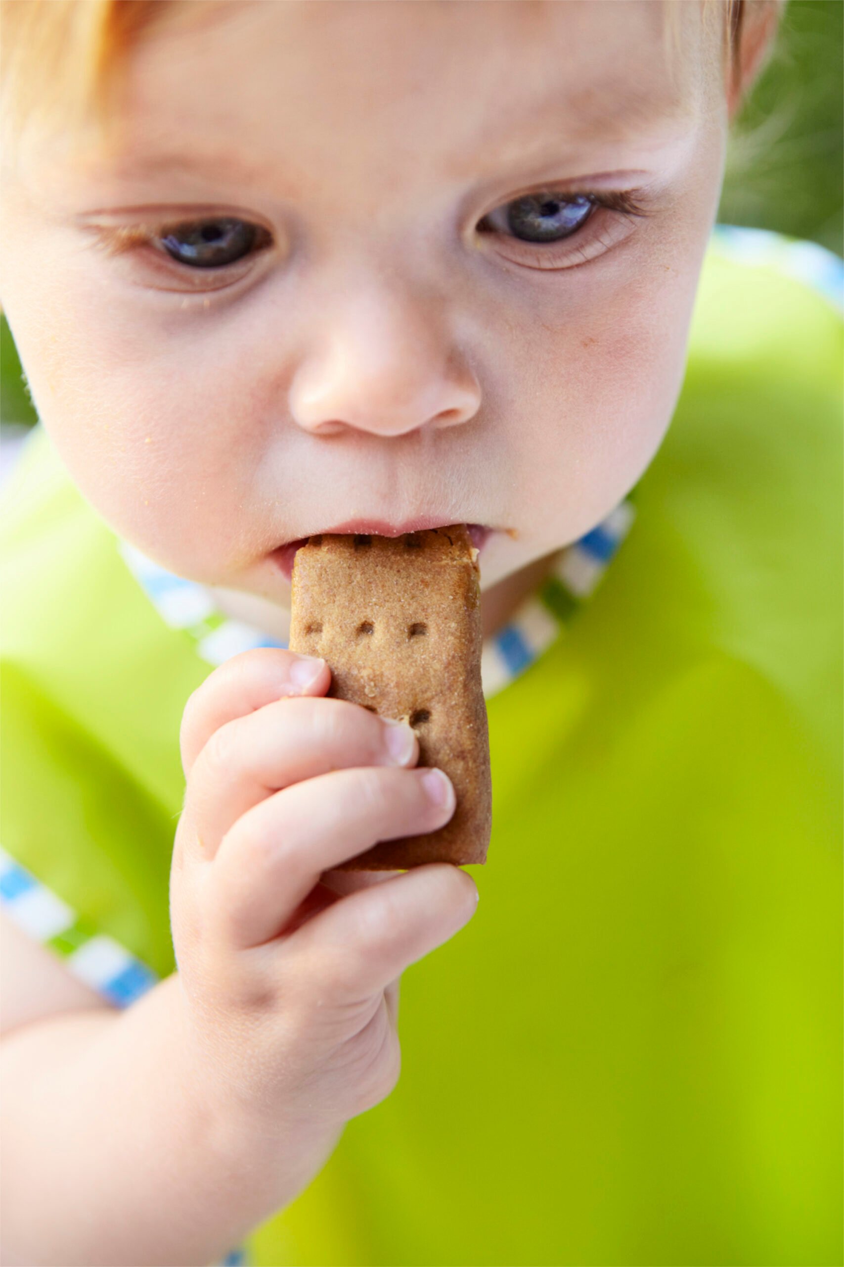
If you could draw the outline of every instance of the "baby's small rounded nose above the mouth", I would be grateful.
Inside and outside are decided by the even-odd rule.
[[[386,438],[456,427],[478,412],[477,379],[426,298],[359,288],[352,302],[326,299],[315,326],[318,345],[290,388],[304,431]]]

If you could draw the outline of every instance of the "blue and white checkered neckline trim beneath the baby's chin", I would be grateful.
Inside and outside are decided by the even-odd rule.
[[[561,551],[555,575],[576,604],[592,594],[631,522],[633,507],[621,502],[597,527]],[[224,617],[211,592],[197,582],[167,571],[125,541],[119,542],[119,549],[162,620],[171,628],[185,630],[208,664],[216,666],[258,646],[286,646],[254,625]],[[504,628],[485,640],[481,678],[487,699],[504,691],[552,645],[563,626],[561,614],[559,603],[531,597]]]

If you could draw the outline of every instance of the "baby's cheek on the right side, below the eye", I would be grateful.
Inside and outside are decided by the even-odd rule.
[[[563,319],[534,324],[543,352],[525,357],[514,416],[533,440],[523,499],[530,494],[528,514],[549,547],[609,513],[657,451],[682,384],[704,242],[682,264],[652,260],[633,279],[607,270],[606,285],[569,293]],[[535,403],[528,416],[525,399]]]

